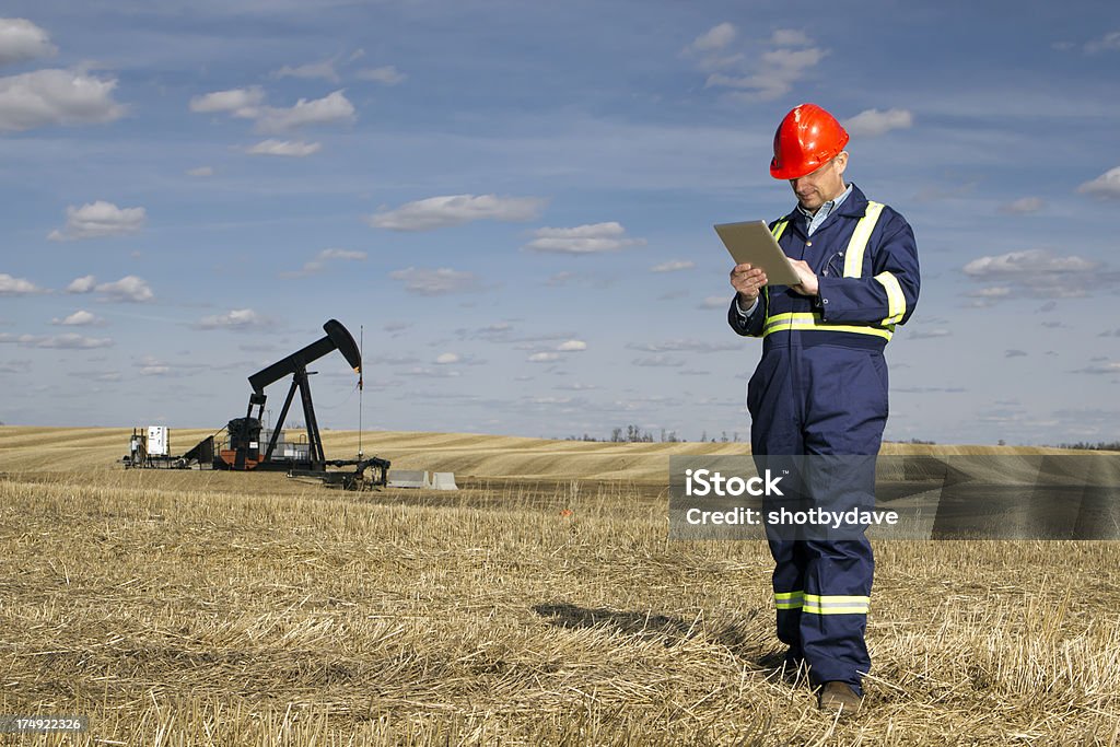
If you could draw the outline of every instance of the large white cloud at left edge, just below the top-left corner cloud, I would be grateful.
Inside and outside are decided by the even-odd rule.
[[[0,132],[48,124],[101,124],[124,113],[116,81],[82,72],[41,69],[0,77]]]

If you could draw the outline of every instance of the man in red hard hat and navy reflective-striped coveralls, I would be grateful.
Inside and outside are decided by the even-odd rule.
[[[902,215],[844,181],[848,133],[830,113],[801,104],[774,136],[771,176],[797,206],[771,225],[800,278],[768,287],[760,268],[737,264],[728,321],[763,338],[747,387],[755,455],[878,454],[887,420],[883,349],[914,311],[918,260]],[[874,474],[852,476],[874,496]],[[810,499],[820,485],[808,485]],[[777,635],[786,664],[809,666],[821,709],[851,715],[870,669],[865,631],[875,563],[856,539],[790,540],[767,527],[774,557]]]

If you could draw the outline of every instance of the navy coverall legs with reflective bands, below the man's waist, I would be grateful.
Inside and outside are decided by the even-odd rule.
[[[876,455],[887,419],[887,367],[877,351],[838,345],[765,348],[747,393],[756,455]],[[864,461],[874,467],[874,460]],[[874,502],[874,471],[850,475]],[[806,489],[816,488],[809,485]],[[875,561],[871,545],[769,536],[777,635],[787,662],[804,660],[811,681],[841,681],[862,694],[870,670],[865,633]]]

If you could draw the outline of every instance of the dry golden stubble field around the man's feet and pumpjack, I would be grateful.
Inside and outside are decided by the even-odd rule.
[[[1112,543],[880,543],[868,710],[833,723],[773,673],[765,545],[669,542],[652,484],[97,469],[123,432],[0,430],[0,713],[92,722],[15,744],[1120,744]]]

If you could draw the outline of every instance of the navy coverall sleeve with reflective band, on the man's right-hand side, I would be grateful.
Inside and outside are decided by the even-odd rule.
[[[816,308],[824,321],[906,324],[914,312],[921,288],[914,231],[893,211],[879,230],[879,237],[871,237],[870,277],[818,278]]]

